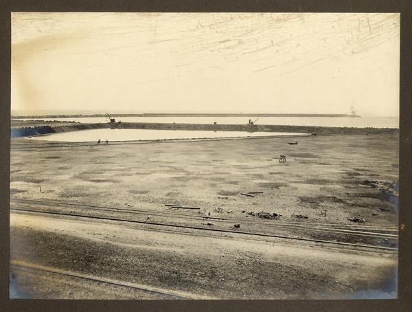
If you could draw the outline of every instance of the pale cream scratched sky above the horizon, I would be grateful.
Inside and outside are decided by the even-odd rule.
[[[12,13],[12,113],[399,113],[400,14]]]

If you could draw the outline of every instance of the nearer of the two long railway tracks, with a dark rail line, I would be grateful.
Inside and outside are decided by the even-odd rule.
[[[178,229],[179,231],[184,231],[190,233],[192,235],[196,235],[196,231],[203,232],[202,234],[211,233],[211,234],[220,234],[220,235],[227,235],[227,234],[235,234],[235,235],[243,235],[249,236],[253,238],[257,238],[259,240],[267,240],[273,238],[280,238],[287,241],[301,241],[306,243],[315,243],[317,245],[329,245],[335,247],[346,247],[351,249],[358,249],[358,250],[378,250],[380,252],[396,252],[398,249],[396,247],[383,247],[378,245],[365,245],[365,244],[358,244],[358,243],[345,243],[339,241],[325,241],[320,239],[312,239],[312,238],[302,238],[296,236],[288,236],[288,235],[279,235],[279,234],[266,234],[266,233],[258,233],[258,232],[247,232],[241,230],[225,230],[225,229],[218,229],[218,228],[211,228],[211,227],[201,227],[201,226],[194,226],[194,225],[179,225],[179,224],[172,224],[172,223],[161,223],[161,222],[151,222],[151,221],[137,221],[131,219],[124,219],[124,218],[113,218],[109,216],[91,216],[90,214],[80,214],[80,213],[66,213],[66,212],[51,212],[51,211],[42,211],[38,209],[25,209],[25,208],[11,208],[12,212],[30,212],[30,213],[37,213],[37,214],[47,214],[52,216],[69,216],[69,217],[78,217],[82,219],[94,219],[94,220],[102,220],[102,221],[119,221],[124,223],[135,223],[135,224],[144,224],[144,225],[152,225],[161,228],[167,229]]]

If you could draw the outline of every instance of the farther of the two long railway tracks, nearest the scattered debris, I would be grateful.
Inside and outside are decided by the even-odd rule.
[[[374,238],[390,238],[390,239],[398,239],[398,230],[393,227],[354,227],[351,225],[336,225],[330,224],[333,227],[319,225],[321,223],[297,223],[297,222],[284,222],[284,221],[264,221],[260,219],[251,220],[250,218],[243,218],[243,219],[228,219],[228,218],[219,218],[214,216],[196,216],[195,214],[183,214],[179,212],[174,212],[172,214],[165,212],[159,212],[155,210],[137,210],[137,209],[130,209],[130,208],[113,208],[113,207],[104,207],[100,205],[87,205],[82,203],[64,203],[60,201],[40,201],[40,200],[30,200],[30,199],[12,199],[12,201],[19,202],[19,203],[26,203],[29,205],[45,205],[45,206],[53,206],[54,208],[78,208],[78,209],[90,209],[95,211],[102,211],[102,212],[119,212],[124,214],[133,214],[133,215],[152,215],[152,216],[161,216],[161,217],[179,217],[185,220],[213,220],[214,222],[218,222],[219,224],[225,225],[233,225],[233,223],[243,223],[248,225],[259,225],[260,227],[265,227],[268,229],[288,229],[288,230],[304,230],[309,232],[325,232],[325,233],[332,233],[332,234],[345,234],[351,236],[365,236],[365,237],[374,237]]]

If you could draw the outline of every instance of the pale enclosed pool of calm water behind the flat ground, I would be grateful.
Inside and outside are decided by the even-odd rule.
[[[192,130],[152,130],[152,129],[93,129],[52,133],[30,140],[47,140],[62,142],[97,142],[99,139],[108,141],[134,141],[134,140],[163,140],[163,139],[201,139],[216,137],[261,137],[279,135],[307,135],[308,133],[286,132],[253,132],[245,131],[192,131]]]

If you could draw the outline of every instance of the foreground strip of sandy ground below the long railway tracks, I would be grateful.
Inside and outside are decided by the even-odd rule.
[[[396,269],[396,258],[390,255],[148,231],[120,224],[13,214],[11,227],[12,263],[123,280],[194,299],[356,297],[365,289],[385,289]],[[21,277],[15,274],[19,285]],[[21,275],[29,280],[21,282],[23,286],[37,286],[37,298],[130,298],[124,289],[84,293],[82,289],[90,287],[84,282],[78,282],[81,287],[76,291],[47,276],[36,280]],[[152,296],[137,294],[135,298]]]

